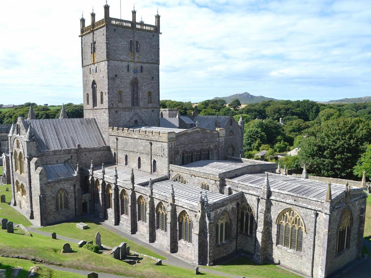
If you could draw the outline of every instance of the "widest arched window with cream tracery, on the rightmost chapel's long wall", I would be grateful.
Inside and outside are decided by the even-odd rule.
[[[303,249],[303,232],[305,232],[302,217],[292,208],[288,208],[279,214],[276,224],[277,244],[301,252]]]

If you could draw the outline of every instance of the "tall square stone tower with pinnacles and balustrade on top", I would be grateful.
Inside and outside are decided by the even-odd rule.
[[[108,143],[108,129],[160,126],[160,16],[155,25],[109,17],[91,25],[80,19],[84,118],[95,118]]]

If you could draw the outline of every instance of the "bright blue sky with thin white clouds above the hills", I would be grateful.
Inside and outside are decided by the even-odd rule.
[[[82,103],[80,21],[101,0],[1,7],[0,103]],[[120,18],[120,1],[109,0]],[[132,1],[121,1],[131,20]],[[327,101],[371,96],[370,0],[135,1],[161,15],[160,99],[199,102],[249,92]],[[139,20],[137,20],[139,21]]]

